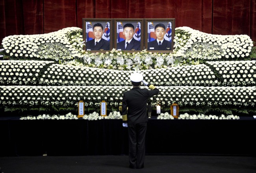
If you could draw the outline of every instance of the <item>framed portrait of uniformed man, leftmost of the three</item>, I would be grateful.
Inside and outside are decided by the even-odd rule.
[[[83,18],[85,51],[106,52],[113,49],[113,19]]]

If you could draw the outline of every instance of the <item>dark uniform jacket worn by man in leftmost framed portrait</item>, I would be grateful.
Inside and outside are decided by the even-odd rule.
[[[100,51],[100,49],[104,51],[109,51],[110,46],[109,46],[109,41],[101,38],[100,42],[98,42],[95,46],[95,39],[90,40],[86,42],[86,50],[87,51]]]

